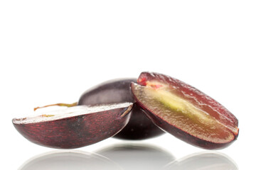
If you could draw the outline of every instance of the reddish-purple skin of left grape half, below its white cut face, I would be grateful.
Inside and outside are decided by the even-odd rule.
[[[124,128],[131,116],[129,106],[105,111],[82,113],[65,118],[26,123],[27,118],[14,118],[16,130],[27,140],[44,147],[73,149],[95,144],[112,137]],[[41,115],[37,116],[38,120]],[[24,120],[24,121],[23,121]]]

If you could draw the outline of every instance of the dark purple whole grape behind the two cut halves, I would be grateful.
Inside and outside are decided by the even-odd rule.
[[[88,91],[85,91],[78,101],[78,105],[95,106],[98,104],[132,102],[134,98],[130,90],[131,82],[137,79],[114,79],[103,82]],[[145,140],[162,135],[159,129],[147,118],[142,108],[134,103],[129,123],[114,137],[123,140]]]

